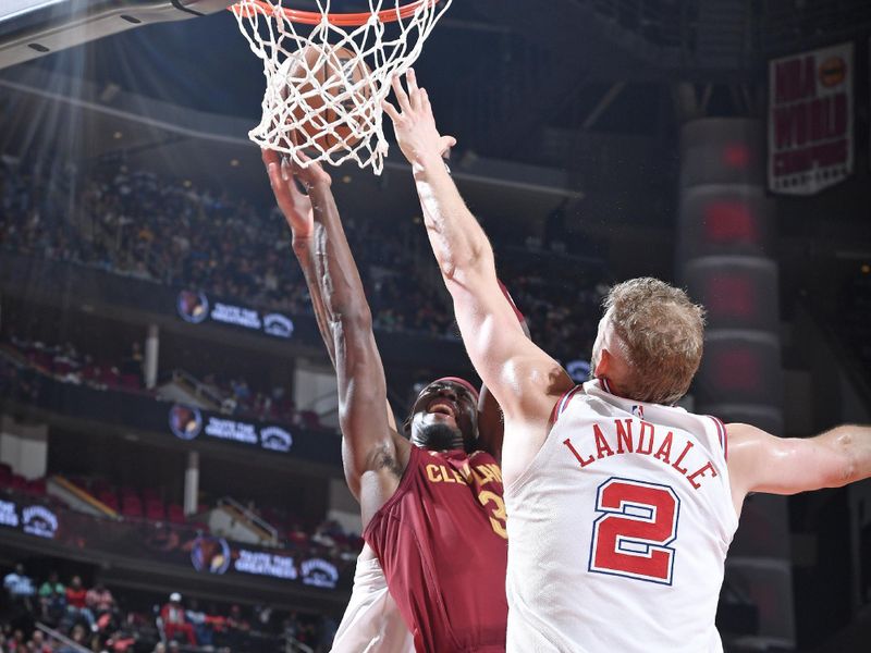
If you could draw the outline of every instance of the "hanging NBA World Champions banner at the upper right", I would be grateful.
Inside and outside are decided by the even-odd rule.
[[[813,195],[852,173],[852,44],[769,62],[769,189]]]

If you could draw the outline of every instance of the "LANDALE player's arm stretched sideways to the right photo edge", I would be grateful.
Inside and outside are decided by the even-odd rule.
[[[843,426],[815,438],[775,438],[728,424],[728,472],[736,509],[750,492],[797,494],[871,477],[871,428]]]

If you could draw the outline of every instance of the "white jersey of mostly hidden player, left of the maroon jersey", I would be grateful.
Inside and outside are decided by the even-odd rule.
[[[415,645],[384,571],[368,544],[357,557],[354,589],[333,639],[332,653],[414,653]]]

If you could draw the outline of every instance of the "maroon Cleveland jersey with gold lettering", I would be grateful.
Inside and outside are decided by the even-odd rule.
[[[364,538],[418,653],[505,650],[508,540],[491,455],[413,446],[400,486]]]

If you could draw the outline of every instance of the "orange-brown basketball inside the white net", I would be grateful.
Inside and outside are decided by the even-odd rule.
[[[296,125],[293,138],[303,147],[324,152],[356,145],[353,124],[363,126],[370,110],[365,102],[371,89],[365,83],[370,71],[347,48],[306,46],[284,61],[280,77],[282,99],[293,95],[287,124]],[[291,133],[286,135],[291,137]]]

